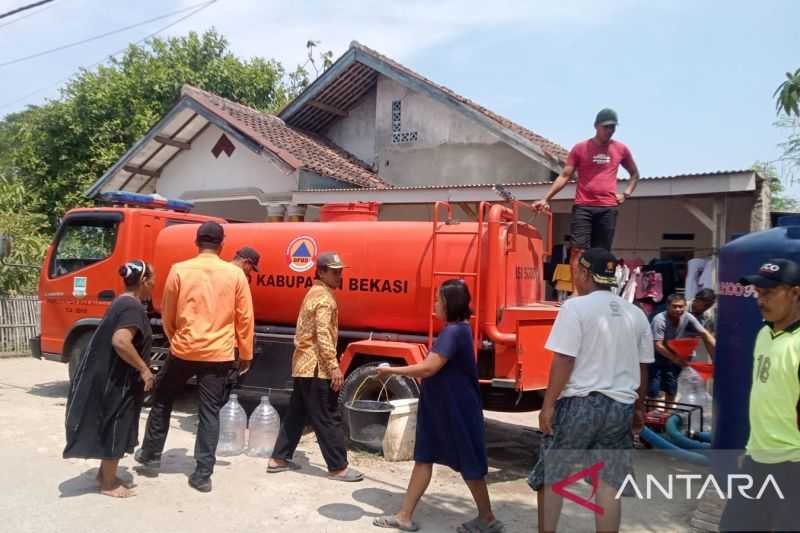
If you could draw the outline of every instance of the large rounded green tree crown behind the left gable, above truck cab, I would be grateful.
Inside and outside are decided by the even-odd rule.
[[[83,192],[152,127],[188,83],[262,111],[292,96],[275,61],[243,61],[215,31],[153,39],[130,46],[96,70],[80,71],[62,98],[20,113],[9,157],[19,176],[47,206],[50,228]]]

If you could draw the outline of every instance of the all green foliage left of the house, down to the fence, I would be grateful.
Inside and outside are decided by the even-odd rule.
[[[320,56],[324,67],[330,57]],[[60,98],[0,120],[0,233],[14,238],[13,262],[41,263],[59,219],[91,205],[86,189],[172,107],[184,84],[276,112],[309,82],[301,66],[287,74],[274,60],[237,58],[214,30],[131,45],[79,71]],[[0,294],[35,292],[36,278],[0,267]]]

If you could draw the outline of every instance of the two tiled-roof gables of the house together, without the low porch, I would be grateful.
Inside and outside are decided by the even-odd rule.
[[[298,191],[548,181],[566,154],[353,42],[278,116],[185,86],[87,194],[159,193],[263,220]]]

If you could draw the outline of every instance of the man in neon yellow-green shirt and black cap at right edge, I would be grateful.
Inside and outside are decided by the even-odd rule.
[[[764,317],[753,352],[750,436],[741,469],[756,488],[772,476],[784,497],[772,489],[755,499],[734,493],[720,531],[796,531],[797,499],[792,496],[800,489],[800,265],[770,259],[739,283],[755,286]]]

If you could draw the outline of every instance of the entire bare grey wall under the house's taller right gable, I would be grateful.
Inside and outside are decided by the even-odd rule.
[[[396,100],[402,102],[401,131],[416,131],[416,142],[392,143],[392,102]],[[481,124],[383,76],[326,135],[375,165],[378,174],[394,185],[508,183],[549,176],[545,168]]]

